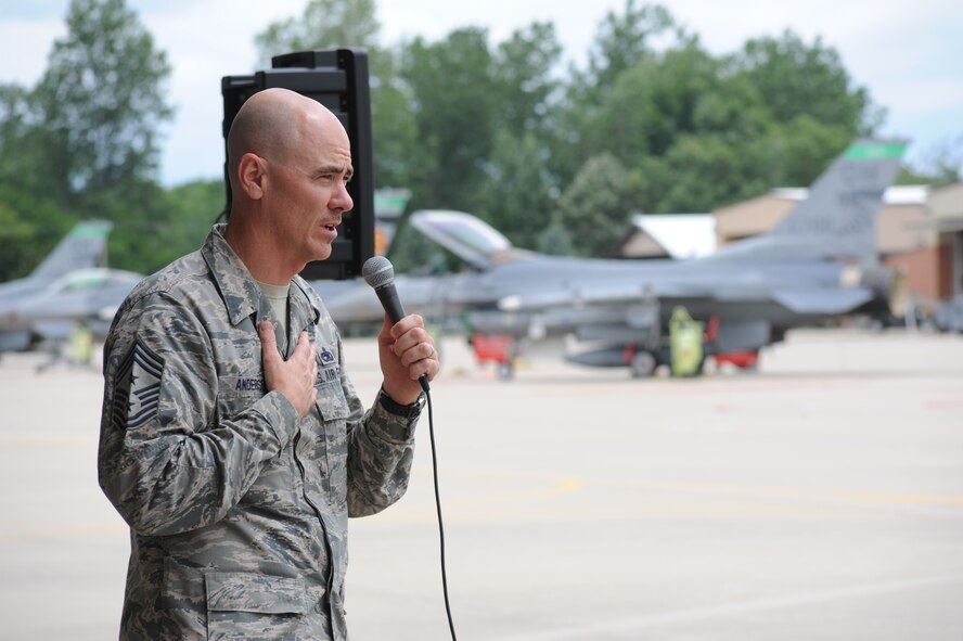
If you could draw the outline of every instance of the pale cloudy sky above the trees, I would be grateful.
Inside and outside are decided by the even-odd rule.
[[[254,36],[300,15],[307,0],[128,0],[174,66],[160,180],[218,178],[223,163],[222,76],[256,70]],[[963,2],[960,0],[669,0],[663,2],[712,53],[791,28],[807,43],[821,36],[888,116],[884,134],[911,139],[922,164],[949,149],[963,158]],[[68,0],[0,0],[0,82],[33,86],[53,40],[65,33]],[[377,0],[383,44],[416,35],[444,38],[485,26],[491,42],[532,21],[551,21],[567,60],[582,63],[600,21],[625,0]],[[948,146],[950,145],[950,146]]]

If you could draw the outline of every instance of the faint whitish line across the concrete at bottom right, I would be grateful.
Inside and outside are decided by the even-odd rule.
[[[622,617],[619,619],[609,618],[604,621],[593,621],[583,625],[567,625],[565,628],[555,630],[544,630],[540,632],[516,634],[513,637],[499,637],[498,641],[562,641],[565,639],[586,639],[596,641],[602,633],[625,634],[654,626],[673,624],[684,625],[704,619],[729,618],[735,615],[758,613],[769,610],[832,603],[874,594],[902,592],[921,588],[936,588],[953,584],[963,584],[963,574],[857,584],[843,588],[809,590],[752,601],[736,601],[705,607],[680,608],[664,613]]]

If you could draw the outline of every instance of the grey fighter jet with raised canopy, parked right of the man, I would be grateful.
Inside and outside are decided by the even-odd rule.
[[[513,247],[468,214],[419,211],[412,225],[468,269],[399,277],[396,285],[409,311],[460,317],[473,334],[510,338],[512,355],[565,335],[573,362],[649,375],[670,360],[668,324],[682,306],[708,330],[704,354],[752,363],[792,328],[855,312],[900,312],[898,277],[876,256],[875,218],[906,146],[853,142],[772,230],[688,260],[539,255]],[[318,289],[324,296],[324,286]],[[325,304],[338,323],[382,318],[363,285]]]

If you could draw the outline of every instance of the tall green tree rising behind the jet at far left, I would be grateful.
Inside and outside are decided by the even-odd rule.
[[[112,219],[112,264],[142,270],[165,229],[156,172],[170,65],[124,0],[72,0],[66,26],[27,99],[21,166],[33,198],[69,213],[57,236],[72,219]]]

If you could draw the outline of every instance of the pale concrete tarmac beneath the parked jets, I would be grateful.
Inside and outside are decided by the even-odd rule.
[[[963,639],[963,337],[795,332],[757,373],[433,385],[462,641]],[[372,341],[346,345],[362,398]],[[97,484],[99,371],[0,361],[0,639],[115,639],[129,542]],[[352,641],[450,639],[428,421],[408,496],[350,526]]]

